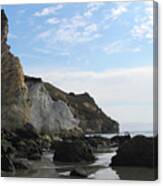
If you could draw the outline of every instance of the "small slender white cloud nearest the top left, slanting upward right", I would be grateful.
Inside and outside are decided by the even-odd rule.
[[[55,14],[56,11],[60,10],[63,8],[62,4],[56,5],[56,6],[50,6],[50,7],[46,7],[43,8],[42,10],[35,12],[33,15],[36,17],[41,17],[41,16],[48,16],[51,14]]]

